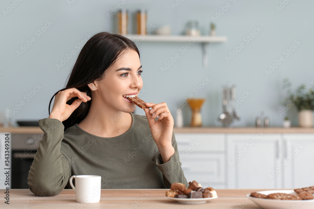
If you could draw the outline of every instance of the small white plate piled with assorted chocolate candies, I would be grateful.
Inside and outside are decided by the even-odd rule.
[[[166,191],[166,197],[182,204],[203,204],[208,200],[218,198],[217,192],[212,187],[203,188],[201,184],[193,180],[188,188],[182,183],[172,183],[170,190]]]

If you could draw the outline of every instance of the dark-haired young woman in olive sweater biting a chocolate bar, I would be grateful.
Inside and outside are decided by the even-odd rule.
[[[34,194],[58,195],[71,188],[72,175],[100,175],[101,189],[188,185],[167,104],[146,103],[151,109],[141,116],[126,98],[143,87],[139,58],[133,41],[119,34],[87,41],[51,112],[50,100],[49,118],[39,120],[44,135],[28,177]]]

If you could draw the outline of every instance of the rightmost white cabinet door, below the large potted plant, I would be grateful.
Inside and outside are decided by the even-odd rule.
[[[283,134],[283,188],[314,185],[314,134]]]

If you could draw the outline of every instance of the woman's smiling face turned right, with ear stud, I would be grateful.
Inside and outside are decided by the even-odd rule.
[[[128,50],[115,65],[106,70],[105,78],[97,82],[96,100],[114,111],[133,112],[135,104],[123,95],[138,96],[143,87],[141,72],[142,65],[138,53]]]

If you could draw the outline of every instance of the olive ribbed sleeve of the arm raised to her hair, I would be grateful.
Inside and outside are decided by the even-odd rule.
[[[44,118],[39,120],[39,126],[44,135],[30,167],[28,185],[35,195],[55,196],[64,189],[71,176],[70,149],[68,144],[61,146],[64,133],[61,121]]]

